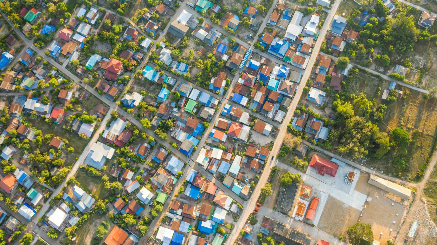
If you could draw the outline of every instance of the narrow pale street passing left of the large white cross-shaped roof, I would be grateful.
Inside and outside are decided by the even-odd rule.
[[[53,191],[52,196],[47,200],[47,202],[42,205],[41,209],[32,217],[33,222],[37,222],[39,218],[43,217],[45,212],[47,212],[50,208],[49,201],[52,200],[53,197],[55,197],[56,194],[58,194],[62,187],[65,186],[66,182],[69,180],[70,177],[73,177],[74,174],[76,174],[76,171],[79,169],[79,166],[83,163],[83,160],[85,160],[85,157],[87,157],[88,152],[90,152],[90,148],[94,142],[97,141],[97,139],[100,137],[100,133],[105,129],[106,127],[106,121],[111,118],[111,113],[108,112],[106,116],[102,119],[102,122],[100,123],[100,126],[97,128],[97,130],[94,132],[93,137],[88,142],[87,146],[83,150],[82,154],[80,154],[79,158],[76,160],[76,163],[73,164],[73,167],[71,167],[71,170],[65,177],[65,179],[62,181],[62,183],[56,187],[55,191]]]

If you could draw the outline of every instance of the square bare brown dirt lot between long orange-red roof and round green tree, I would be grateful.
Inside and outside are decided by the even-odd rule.
[[[318,227],[335,237],[346,235],[347,228],[358,221],[361,213],[358,209],[352,208],[332,196],[328,197],[325,208]]]

